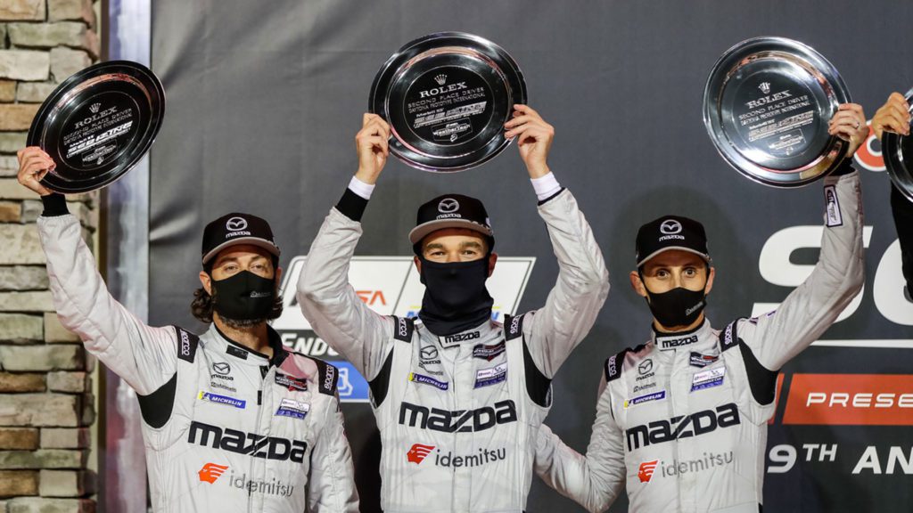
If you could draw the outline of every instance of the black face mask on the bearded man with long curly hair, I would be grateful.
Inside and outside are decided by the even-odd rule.
[[[224,319],[265,321],[276,302],[276,282],[250,271],[211,283],[213,308]]]

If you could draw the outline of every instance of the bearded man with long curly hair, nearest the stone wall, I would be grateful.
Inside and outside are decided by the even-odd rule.
[[[18,156],[19,182],[45,206],[58,317],[139,396],[153,511],[358,511],[336,369],[287,351],[267,324],[281,312],[267,222],[236,213],[206,226],[193,310],[209,330],[153,328],[110,296],[64,196],[40,183],[51,157]]]

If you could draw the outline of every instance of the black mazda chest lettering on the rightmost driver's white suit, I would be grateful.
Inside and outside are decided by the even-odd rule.
[[[708,434],[718,427],[741,424],[739,408],[735,403],[717,406],[716,411],[704,410],[695,414],[672,417],[667,421],[641,424],[624,432],[627,435],[628,451],[641,445],[662,444],[679,438]]]

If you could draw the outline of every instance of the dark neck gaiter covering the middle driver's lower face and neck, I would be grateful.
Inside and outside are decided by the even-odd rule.
[[[494,299],[488,295],[488,258],[472,262],[422,261],[425,298],[418,317],[439,336],[475,328],[491,319]]]

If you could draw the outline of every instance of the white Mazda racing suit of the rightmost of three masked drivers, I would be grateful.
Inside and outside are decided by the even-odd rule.
[[[757,512],[780,368],[863,284],[858,173],[824,180],[821,257],[775,312],[660,336],[605,363],[586,455],[542,427],[536,472],[590,511],[623,487],[631,511]]]

